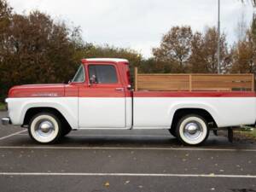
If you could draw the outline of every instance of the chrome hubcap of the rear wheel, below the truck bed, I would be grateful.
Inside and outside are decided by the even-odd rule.
[[[201,137],[202,127],[197,122],[189,122],[184,126],[183,133],[188,139],[194,140]]]

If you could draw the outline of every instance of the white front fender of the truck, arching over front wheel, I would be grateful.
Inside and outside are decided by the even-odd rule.
[[[77,97],[9,98],[7,102],[13,125],[23,124],[29,108],[55,108],[67,119],[73,129],[79,128]]]

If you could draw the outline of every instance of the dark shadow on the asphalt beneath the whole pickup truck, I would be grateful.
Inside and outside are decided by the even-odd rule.
[[[53,146],[53,147],[119,147],[119,148],[187,148],[175,137],[145,136],[73,136],[64,137],[61,142],[42,145],[32,141],[28,135],[11,137],[1,141],[0,146]],[[196,148],[196,147],[195,147]],[[256,143],[242,140],[229,143],[226,137],[209,137],[200,148],[256,148]]]

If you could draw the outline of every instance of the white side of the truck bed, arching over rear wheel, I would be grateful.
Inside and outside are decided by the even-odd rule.
[[[205,109],[219,127],[250,125],[256,119],[255,97],[135,97],[134,128],[168,129],[179,108]]]

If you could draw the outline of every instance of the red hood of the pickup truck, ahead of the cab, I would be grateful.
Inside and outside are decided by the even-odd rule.
[[[60,97],[65,95],[65,84],[25,84],[14,86],[8,97]]]

